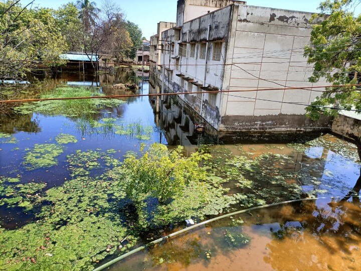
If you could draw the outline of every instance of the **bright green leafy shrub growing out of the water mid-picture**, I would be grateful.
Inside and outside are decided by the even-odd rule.
[[[168,150],[165,145],[153,144],[137,159],[132,156],[124,160],[123,168],[128,178],[125,191],[135,202],[152,196],[164,203],[167,199],[182,195],[193,182],[207,178],[206,170],[199,163],[208,155],[193,153],[182,155],[183,147]]]

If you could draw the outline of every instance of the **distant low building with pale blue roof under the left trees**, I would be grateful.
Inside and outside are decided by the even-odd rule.
[[[67,68],[84,70],[93,69],[92,62],[98,69],[114,68],[114,60],[111,54],[101,53],[96,55],[87,55],[83,52],[66,52],[60,55],[61,59],[68,60]]]

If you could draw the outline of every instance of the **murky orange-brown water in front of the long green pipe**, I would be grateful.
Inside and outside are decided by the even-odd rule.
[[[111,270],[360,270],[360,201],[303,201],[207,224]],[[334,204],[332,204],[334,203]]]

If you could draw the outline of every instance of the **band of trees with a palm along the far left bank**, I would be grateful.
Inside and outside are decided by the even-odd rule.
[[[118,61],[136,54],[141,30],[126,22],[119,7],[104,1],[101,9],[88,0],[57,10],[22,6],[20,0],[0,3],[0,79],[25,78],[37,64],[63,64],[64,51],[111,54]],[[135,48],[135,49],[134,49]]]

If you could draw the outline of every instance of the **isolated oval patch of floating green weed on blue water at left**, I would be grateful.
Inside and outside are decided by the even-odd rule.
[[[24,165],[28,170],[49,168],[58,164],[57,157],[63,148],[56,144],[36,144],[24,157]]]

